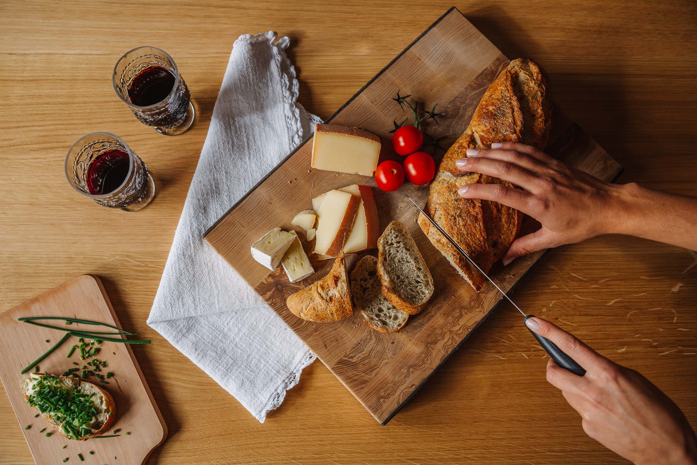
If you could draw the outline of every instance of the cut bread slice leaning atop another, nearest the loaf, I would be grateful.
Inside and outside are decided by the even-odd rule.
[[[378,277],[388,301],[413,315],[434,294],[434,280],[406,226],[393,221],[378,239]]]

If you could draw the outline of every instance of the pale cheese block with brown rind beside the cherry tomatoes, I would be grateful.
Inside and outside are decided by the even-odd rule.
[[[380,156],[380,138],[358,128],[318,124],[312,142],[312,167],[373,176]]]

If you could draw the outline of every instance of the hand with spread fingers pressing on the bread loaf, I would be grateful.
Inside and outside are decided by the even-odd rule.
[[[542,228],[517,238],[502,258],[507,265],[522,255],[581,242],[613,231],[621,222],[621,185],[604,183],[580,169],[568,167],[537,148],[515,142],[491,144],[491,149],[468,148],[457,160],[462,171],[501,178],[503,184],[470,184],[459,189],[465,198],[486,199],[532,216]]]

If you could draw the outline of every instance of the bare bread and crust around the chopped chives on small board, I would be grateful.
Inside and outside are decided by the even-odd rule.
[[[24,394],[24,398],[29,399],[29,395],[31,392],[33,392],[33,388],[31,386],[33,386],[39,379],[45,378],[46,376],[50,375],[45,373],[27,373],[22,376],[20,379],[20,389]],[[116,404],[114,403],[114,397],[112,397],[107,390],[102,389],[100,386],[96,386],[93,383],[89,383],[88,381],[84,381],[84,379],[74,378],[72,376],[54,376],[54,378],[56,379],[58,386],[61,389],[68,390],[71,395],[73,392],[82,392],[87,395],[93,394],[92,401],[98,413],[93,416],[93,420],[90,424],[90,434],[79,436],[79,441],[85,441],[86,439],[90,439],[95,436],[101,436],[111,429],[112,425],[114,425],[114,421],[116,420]],[[55,412],[52,411],[45,411],[44,413],[41,413],[41,416],[43,416],[49,425],[52,425],[58,429],[63,436],[68,438],[68,435],[66,435],[61,428],[63,425],[62,422],[59,422],[54,418],[54,413]]]

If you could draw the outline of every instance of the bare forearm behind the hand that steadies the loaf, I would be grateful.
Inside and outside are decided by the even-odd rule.
[[[615,185],[611,233],[697,250],[697,197],[666,194],[635,183]]]

